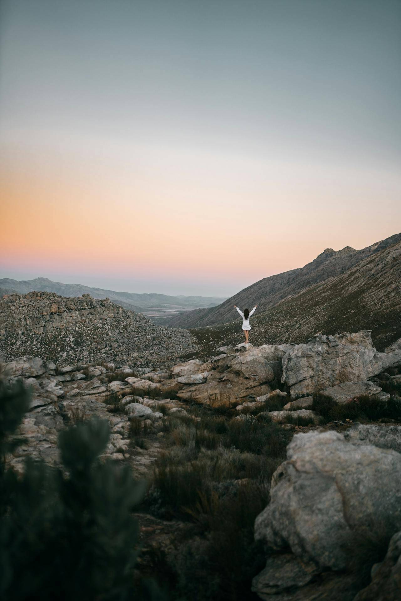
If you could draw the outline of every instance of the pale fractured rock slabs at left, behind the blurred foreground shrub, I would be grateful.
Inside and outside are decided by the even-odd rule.
[[[27,456],[43,459],[47,465],[60,464],[57,437],[71,423],[97,416],[107,419],[111,426],[111,436],[103,459],[126,460],[130,462],[130,418],[137,418],[147,432],[158,433],[164,427],[164,414],[158,412],[159,404],[165,404],[167,412],[173,409],[185,410],[186,405],[177,400],[165,398],[166,391],[172,392],[180,386],[169,379],[169,374],[146,373],[157,379],[164,374],[165,379],[153,383],[128,376],[126,368],[115,370],[114,364],[88,365],[81,362],[57,368],[52,362],[44,362],[39,357],[21,357],[2,366],[1,375],[7,380],[22,379],[30,391],[28,413],[23,418],[17,432],[23,442],[7,457],[7,463],[16,471],[23,471]],[[128,370],[132,373],[132,370]],[[144,368],[144,371],[145,370]],[[121,379],[113,379],[120,377]],[[147,383],[155,399],[134,395],[134,386],[128,381]],[[110,411],[109,409],[112,409]],[[115,410],[117,409],[117,410]],[[151,459],[147,458],[146,463]],[[132,462],[136,473],[141,469],[138,457]]]

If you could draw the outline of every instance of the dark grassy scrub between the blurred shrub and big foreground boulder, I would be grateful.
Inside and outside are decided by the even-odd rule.
[[[144,509],[196,526],[159,569],[170,573],[170,599],[251,599],[265,554],[254,520],[269,501],[273,472],[292,434],[269,419],[192,407],[165,427]],[[237,413],[237,412],[234,412]]]

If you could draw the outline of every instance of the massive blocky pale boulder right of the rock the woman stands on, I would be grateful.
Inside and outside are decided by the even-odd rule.
[[[297,344],[283,357],[281,382],[293,397],[308,395],[343,382],[368,380],[401,359],[401,350],[378,353],[370,330],[337,336],[317,334],[307,344]]]

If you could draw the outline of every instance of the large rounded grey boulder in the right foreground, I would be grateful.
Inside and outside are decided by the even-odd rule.
[[[353,445],[337,432],[298,434],[272,477],[256,540],[290,548],[321,570],[346,569],[355,535],[380,538],[401,528],[400,473],[396,451]]]

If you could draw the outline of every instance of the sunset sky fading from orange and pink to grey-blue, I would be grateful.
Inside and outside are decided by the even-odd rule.
[[[401,231],[400,1],[0,7],[0,278],[230,296]]]

